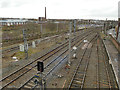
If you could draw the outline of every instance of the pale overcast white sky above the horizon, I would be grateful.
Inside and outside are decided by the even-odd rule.
[[[0,0],[0,17],[49,19],[118,18],[119,0]]]

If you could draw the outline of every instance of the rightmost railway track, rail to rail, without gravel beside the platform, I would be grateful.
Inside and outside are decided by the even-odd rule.
[[[105,64],[104,53],[102,52],[99,39],[97,40],[97,55],[98,55],[98,75],[97,75],[98,87],[99,88],[111,88],[108,69]],[[104,82],[102,80],[104,80]]]

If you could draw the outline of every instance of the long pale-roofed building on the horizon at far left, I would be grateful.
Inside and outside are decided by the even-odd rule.
[[[2,26],[11,26],[11,25],[23,25],[26,24],[28,20],[21,20],[21,19],[6,19],[0,20],[0,25]]]

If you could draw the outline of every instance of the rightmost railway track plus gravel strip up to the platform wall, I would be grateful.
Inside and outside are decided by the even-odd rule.
[[[118,85],[115,81],[114,73],[112,72],[112,68],[109,64],[109,60],[105,53],[106,51],[105,48],[103,47],[103,42],[101,38],[98,40],[97,43],[97,51],[98,51],[97,54],[98,54],[98,64],[99,64],[98,66],[99,88],[109,88],[110,90],[117,89]]]

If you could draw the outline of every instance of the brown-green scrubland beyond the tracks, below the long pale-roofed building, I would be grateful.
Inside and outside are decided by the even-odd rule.
[[[56,23],[43,23],[42,32],[41,25],[37,23],[27,23],[18,26],[3,26],[2,41],[3,47],[23,42],[23,29],[26,30],[27,40],[34,40],[41,37],[47,37],[58,33],[64,33],[68,30],[68,24],[59,23],[58,32]]]

